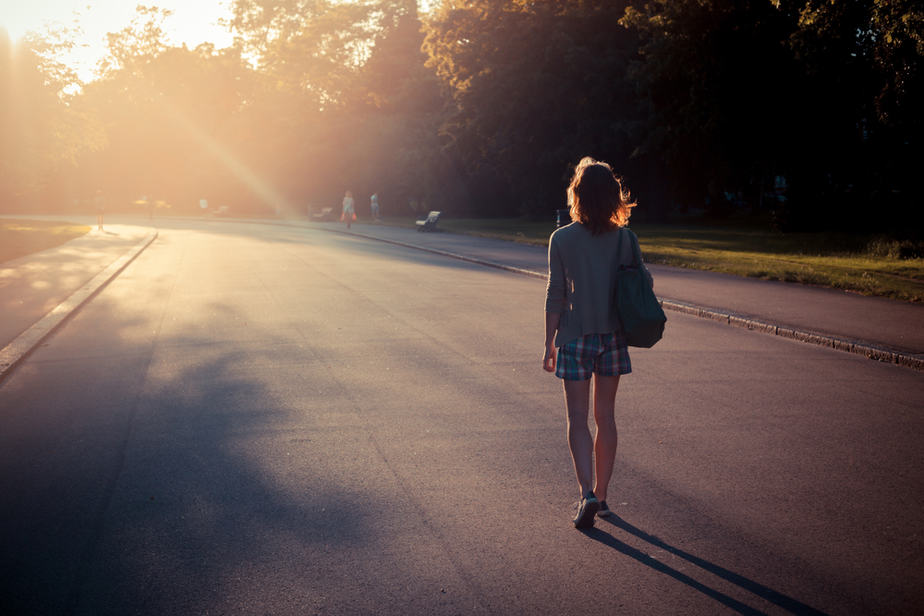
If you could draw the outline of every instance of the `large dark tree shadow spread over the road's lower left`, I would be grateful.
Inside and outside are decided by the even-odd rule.
[[[147,284],[151,301],[170,281]],[[372,513],[389,496],[358,485],[372,454],[350,446],[368,434],[325,399],[314,351],[287,330],[235,330],[231,305],[220,331],[184,322],[155,343],[124,293],[0,384],[0,612],[316,613],[334,594],[368,612],[361,580],[387,596],[413,577],[406,560],[379,572],[355,557],[392,549]]]

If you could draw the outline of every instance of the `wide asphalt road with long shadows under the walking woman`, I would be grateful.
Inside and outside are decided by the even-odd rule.
[[[0,612],[917,613],[920,373],[671,314],[581,533],[543,296],[167,223],[0,383]]]

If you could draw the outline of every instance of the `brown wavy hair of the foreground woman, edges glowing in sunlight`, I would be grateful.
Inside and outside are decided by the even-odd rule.
[[[598,235],[629,224],[636,203],[608,164],[585,156],[568,185],[571,220]]]

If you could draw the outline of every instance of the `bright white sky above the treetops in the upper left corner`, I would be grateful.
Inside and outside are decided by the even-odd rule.
[[[97,77],[97,64],[108,53],[106,34],[118,32],[135,17],[138,4],[153,5],[173,12],[164,20],[166,43],[186,44],[190,49],[212,43],[228,47],[232,35],[218,25],[231,16],[231,0],[2,0],[0,27],[13,41],[48,27],[79,28],[77,44],[62,61],[84,82]]]

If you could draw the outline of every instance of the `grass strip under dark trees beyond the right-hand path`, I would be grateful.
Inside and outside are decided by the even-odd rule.
[[[551,217],[550,217],[551,218]],[[393,224],[413,226],[412,219]],[[440,219],[447,231],[546,245],[551,219]],[[760,228],[634,224],[645,260],[765,280],[814,284],[911,302],[924,301],[922,245],[837,233],[782,234]]]

